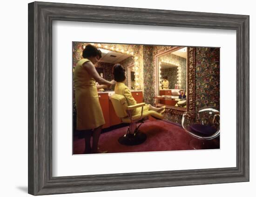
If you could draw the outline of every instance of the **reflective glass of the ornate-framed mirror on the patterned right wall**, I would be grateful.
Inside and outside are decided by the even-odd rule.
[[[187,47],[157,57],[158,105],[187,107]]]

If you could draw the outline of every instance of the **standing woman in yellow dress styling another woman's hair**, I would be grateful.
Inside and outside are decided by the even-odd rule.
[[[102,125],[105,124],[98,97],[96,81],[104,85],[114,85],[98,74],[95,63],[101,59],[101,51],[93,45],[87,45],[81,59],[74,69],[75,103],[77,108],[76,129],[85,134],[84,153],[99,153],[98,142]],[[90,140],[93,137],[91,147]]]

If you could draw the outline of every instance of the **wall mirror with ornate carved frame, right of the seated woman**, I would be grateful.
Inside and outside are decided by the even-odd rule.
[[[156,54],[156,105],[176,113],[194,110],[194,53],[193,47],[176,46]]]

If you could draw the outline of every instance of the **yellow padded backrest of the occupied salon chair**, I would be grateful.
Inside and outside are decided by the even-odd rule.
[[[114,110],[115,110],[115,114],[119,117],[119,118],[125,118],[128,116],[126,109],[127,109],[127,101],[125,99],[125,97],[121,94],[113,94],[110,97],[110,100],[113,104]]]

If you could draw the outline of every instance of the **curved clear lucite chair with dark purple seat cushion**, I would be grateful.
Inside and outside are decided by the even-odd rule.
[[[189,141],[193,149],[219,148],[213,144],[214,138],[220,135],[220,112],[214,107],[204,107],[194,112],[184,112],[182,116],[182,127],[194,138]],[[218,142],[219,143],[219,142]]]

